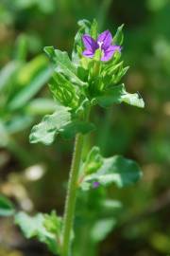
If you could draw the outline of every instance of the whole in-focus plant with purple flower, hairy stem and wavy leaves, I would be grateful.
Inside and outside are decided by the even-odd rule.
[[[144,101],[138,93],[128,93],[125,84],[121,83],[128,69],[122,61],[123,26],[118,27],[112,36],[109,30],[98,33],[95,20],[92,24],[81,20],[78,25],[71,59],[65,51],[53,46],[44,47],[53,69],[49,89],[56,101],[56,110],[35,125],[29,137],[31,143],[42,142],[45,145],[53,143],[58,135],[67,139],[76,137],[64,216],[59,217],[55,211],[50,214],[38,213],[34,217],[25,212],[15,214],[15,222],[26,238],[38,238],[55,255],[60,256],[73,255],[72,244],[78,239],[74,229],[76,201],[81,198],[82,204],[83,198],[95,191],[101,203],[101,188],[105,190],[112,184],[123,188],[137,182],[142,174],[135,161],[121,155],[105,158],[96,146],[82,160],[85,135],[97,132],[90,120],[95,105],[106,108],[125,102],[144,107]],[[103,201],[101,204],[104,205]],[[102,209],[105,209],[104,206]],[[97,213],[95,211],[94,215]],[[109,229],[100,230],[97,241],[105,236],[102,232],[107,234],[112,227],[110,222],[107,225]]]

